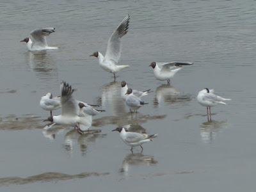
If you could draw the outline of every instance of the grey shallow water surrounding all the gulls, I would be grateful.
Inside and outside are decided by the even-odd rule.
[[[1,191],[254,191],[255,1],[1,1],[0,188]],[[130,65],[113,82],[94,51],[125,15],[120,63]],[[19,41],[29,31],[54,26],[49,45],[28,52]],[[156,81],[152,61],[193,61],[172,86]],[[95,134],[68,127],[45,131],[39,100],[60,94],[62,80],[75,97],[100,104]],[[131,119],[120,99],[120,81],[147,90],[149,102]],[[206,109],[202,88],[232,98]],[[60,111],[54,111],[58,114]],[[117,126],[158,133],[132,155]],[[237,183],[237,184],[236,184]]]

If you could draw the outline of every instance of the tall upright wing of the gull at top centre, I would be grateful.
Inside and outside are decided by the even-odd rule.
[[[127,15],[110,36],[105,55],[106,60],[113,60],[115,63],[118,63],[121,56],[121,38],[128,32],[129,20],[130,15]]]

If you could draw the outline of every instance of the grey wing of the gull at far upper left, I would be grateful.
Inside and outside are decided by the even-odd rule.
[[[50,35],[51,33],[55,32],[55,28],[43,28],[43,29],[35,29],[30,32],[30,35],[33,38],[33,43],[36,45],[47,46],[45,36]]]

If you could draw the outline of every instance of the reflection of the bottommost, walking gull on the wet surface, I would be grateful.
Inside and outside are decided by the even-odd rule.
[[[147,156],[141,153],[127,154],[127,156],[124,157],[122,167],[120,168],[119,172],[124,175],[128,175],[132,166],[151,166],[154,164],[157,164],[154,156]]]

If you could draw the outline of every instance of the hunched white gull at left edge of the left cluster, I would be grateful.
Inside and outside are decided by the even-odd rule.
[[[40,107],[46,111],[50,111],[52,116],[52,111],[61,108],[60,97],[52,97],[52,93],[47,93],[41,97]]]

